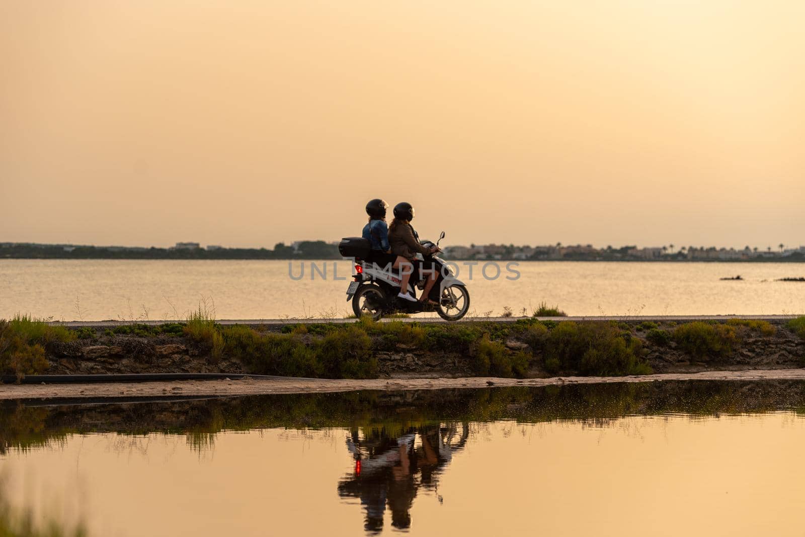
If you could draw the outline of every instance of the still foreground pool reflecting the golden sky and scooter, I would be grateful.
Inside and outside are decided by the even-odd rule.
[[[67,403],[0,473],[90,535],[803,535],[802,382]]]

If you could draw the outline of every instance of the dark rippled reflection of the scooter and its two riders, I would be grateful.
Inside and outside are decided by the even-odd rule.
[[[410,527],[417,490],[436,487],[438,474],[453,452],[464,447],[467,437],[468,424],[425,425],[409,428],[398,437],[373,429],[361,438],[354,430],[347,438],[347,449],[353,453],[355,467],[338,483],[338,494],[360,498],[367,531],[382,530],[386,504],[393,527]]]

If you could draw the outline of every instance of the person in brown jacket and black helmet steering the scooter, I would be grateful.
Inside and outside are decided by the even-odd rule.
[[[425,289],[423,289],[422,296],[419,297],[420,302],[425,302],[427,294],[431,292],[436,283],[436,270],[433,269],[432,263],[417,260],[416,254],[421,253],[423,256],[428,256],[439,252],[439,248],[436,246],[426,248],[419,242],[419,235],[411,227],[412,219],[414,219],[414,207],[411,206],[411,203],[401,202],[394,206],[394,220],[391,221],[389,227],[389,242],[391,252],[398,256],[394,268],[400,268],[402,279],[397,296],[403,300],[415,302],[416,299],[408,294],[408,281],[411,280],[411,273],[416,269],[420,277],[423,277],[424,273],[429,271]],[[401,258],[403,261],[400,261]]]

